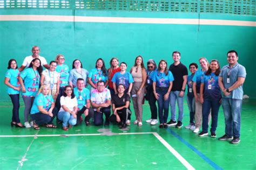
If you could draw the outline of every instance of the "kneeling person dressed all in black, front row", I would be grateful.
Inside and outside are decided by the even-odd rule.
[[[131,114],[130,110],[130,96],[125,94],[125,87],[123,84],[118,86],[118,94],[112,98],[113,115],[110,116],[110,122],[118,123],[120,128],[126,128],[126,121]]]

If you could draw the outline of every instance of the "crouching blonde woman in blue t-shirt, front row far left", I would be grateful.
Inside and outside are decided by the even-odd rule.
[[[57,108],[50,93],[50,87],[43,84],[31,108],[31,118],[35,130],[39,130],[39,125],[45,125],[46,128],[57,128],[52,124],[53,119],[57,115]]]

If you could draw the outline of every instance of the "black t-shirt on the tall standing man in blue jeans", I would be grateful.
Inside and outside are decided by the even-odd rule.
[[[179,63],[177,66],[174,66],[174,63],[169,67],[169,70],[172,72],[174,81],[172,83],[172,91],[181,91],[183,84],[183,76],[187,75],[187,67],[183,63]]]

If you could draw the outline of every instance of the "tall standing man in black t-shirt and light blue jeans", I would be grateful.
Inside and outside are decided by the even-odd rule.
[[[167,123],[167,126],[176,125],[176,128],[181,128],[183,126],[183,97],[186,89],[188,74],[186,66],[180,62],[180,57],[180,52],[174,51],[172,53],[174,63],[169,68],[173,74],[174,81],[170,95],[171,120]],[[179,108],[178,123],[176,122],[176,101],[178,102]]]

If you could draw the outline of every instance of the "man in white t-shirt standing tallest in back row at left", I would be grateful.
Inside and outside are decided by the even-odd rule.
[[[42,66],[44,66],[45,68],[50,68],[50,66],[48,65],[45,58],[43,56],[40,56],[39,53],[40,53],[39,47],[33,46],[32,47],[32,55],[25,57],[25,59],[22,63],[22,66],[18,68],[19,72],[22,72],[24,70],[24,68],[28,68],[33,59],[39,59],[41,61]]]

